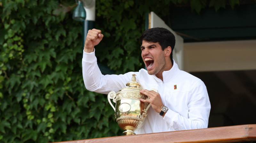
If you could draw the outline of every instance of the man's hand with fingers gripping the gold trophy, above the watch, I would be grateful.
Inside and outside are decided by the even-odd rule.
[[[164,105],[161,99],[161,96],[159,93],[152,91],[152,90],[140,90],[141,94],[147,95],[148,98],[150,99],[140,99],[140,101],[142,102],[148,102],[151,104],[152,108],[157,112],[160,113],[161,112],[161,107]]]

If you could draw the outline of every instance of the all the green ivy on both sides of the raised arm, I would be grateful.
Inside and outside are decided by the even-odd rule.
[[[166,16],[176,3],[190,3],[198,13],[206,6],[205,0],[96,0],[95,27],[105,35],[98,60],[118,74],[143,68],[145,13]],[[82,23],[72,20],[74,6],[68,0],[0,1],[0,143],[122,135],[107,96],[84,87]],[[211,0],[210,6],[218,10],[223,3]]]

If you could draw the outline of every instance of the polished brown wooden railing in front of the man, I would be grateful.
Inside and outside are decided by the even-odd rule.
[[[256,124],[160,132],[58,143],[228,143],[256,141]]]

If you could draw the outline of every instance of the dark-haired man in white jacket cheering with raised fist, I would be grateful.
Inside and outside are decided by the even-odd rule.
[[[100,30],[88,31],[82,59],[85,87],[102,94],[117,92],[131,81],[132,74],[136,74],[137,82],[144,89],[140,92],[150,98],[140,101],[149,102],[152,107],[136,134],[207,128],[211,105],[206,87],[202,80],[179,70],[172,59],[175,37],[169,30],[146,30],[140,37],[140,49],[147,70],[123,75],[101,74],[94,46],[102,38]],[[152,88],[156,88],[158,93],[149,91]]]

